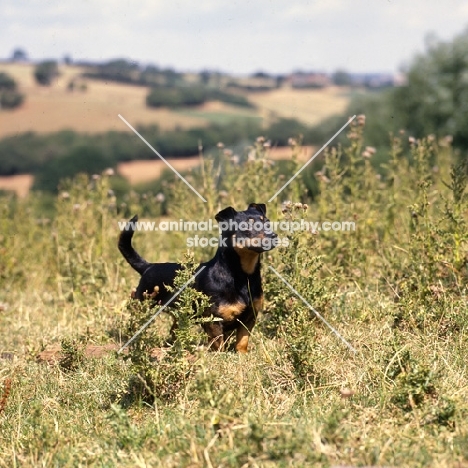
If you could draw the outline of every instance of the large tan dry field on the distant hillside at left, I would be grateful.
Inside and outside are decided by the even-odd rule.
[[[118,118],[123,115],[132,125],[157,124],[162,129],[204,125],[203,118],[191,117],[168,109],[146,107],[145,87],[86,80],[86,91],[67,89],[69,81],[82,69],[60,68],[60,77],[50,87],[34,82],[33,66],[0,64],[0,72],[18,80],[26,100],[19,109],[0,112],[0,138],[26,131],[39,133],[71,129],[78,132],[130,131]]]

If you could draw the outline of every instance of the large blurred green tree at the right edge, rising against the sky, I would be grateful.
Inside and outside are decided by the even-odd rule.
[[[390,146],[389,134],[405,131],[423,138],[449,135],[456,148],[468,148],[468,31],[452,41],[434,41],[424,54],[416,57],[405,71],[406,82],[391,89],[356,94],[341,121],[364,113],[369,127],[366,142]],[[335,118],[327,120],[313,133],[328,133]]]

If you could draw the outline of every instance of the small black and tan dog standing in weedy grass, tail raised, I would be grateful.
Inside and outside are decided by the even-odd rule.
[[[210,298],[211,306],[204,315],[221,320],[203,325],[214,350],[224,349],[225,341],[236,333],[236,350],[246,353],[250,333],[263,305],[260,255],[278,244],[277,235],[269,229],[264,204],[251,203],[237,212],[228,207],[215,216],[221,230],[216,255],[195,279],[195,288]],[[132,247],[135,216],[120,234],[119,250],[127,262],[141,275],[135,298],[165,304],[172,297],[165,285],[173,285],[179,263],[149,263]]]

